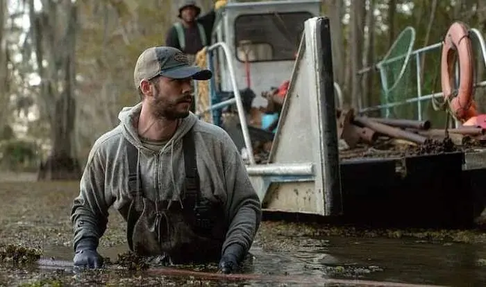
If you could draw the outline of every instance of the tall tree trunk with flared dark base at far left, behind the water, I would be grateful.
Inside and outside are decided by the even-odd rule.
[[[46,162],[40,164],[38,180],[79,180],[81,167],[74,155],[76,118],[76,32],[78,9],[71,0],[54,3],[43,1],[40,24],[37,25],[37,61],[49,59],[47,69],[39,74],[44,84],[41,96],[49,110],[52,149]],[[33,5],[31,1],[31,5]],[[33,15],[37,19],[39,15]],[[58,27],[66,27],[60,31]],[[63,50],[59,51],[58,47]],[[46,57],[47,56],[47,57]],[[44,58],[45,57],[45,58]]]

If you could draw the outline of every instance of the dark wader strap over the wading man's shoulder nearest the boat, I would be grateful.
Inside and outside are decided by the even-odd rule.
[[[196,164],[196,143],[192,129],[183,137],[183,153],[185,167],[185,198],[184,206],[193,209],[199,202],[199,173]]]

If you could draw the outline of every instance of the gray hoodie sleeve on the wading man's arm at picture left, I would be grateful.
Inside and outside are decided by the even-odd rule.
[[[105,162],[101,149],[95,144],[90,151],[88,160],[81,177],[80,193],[74,199],[71,220],[74,231],[73,244],[81,238],[94,237],[99,240],[106,230],[108,223],[108,208],[113,201],[106,195]]]

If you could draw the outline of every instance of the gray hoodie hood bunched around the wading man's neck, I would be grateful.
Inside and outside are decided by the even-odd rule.
[[[138,103],[133,107],[124,107],[121,109],[121,112],[119,112],[118,119],[120,120],[120,125],[122,125],[124,137],[139,150],[148,151],[148,149],[142,145],[142,141],[140,141],[137,128],[135,128],[134,124],[138,119],[138,116],[140,116],[141,110],[142,103]],[[176,133],[161,151],[165,150],[168,146],[172,146],[174,142],[181,141],[184,135],[191,130],[196,121],[197,117],[192,112],[190,112],[184,119],[181,119]]]

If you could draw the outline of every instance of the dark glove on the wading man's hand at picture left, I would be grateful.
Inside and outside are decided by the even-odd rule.
[[[101,268],[103,258],[97,252],[98,240],[94,237],[82,238],[76,244],[74,266],[84,268]]]

